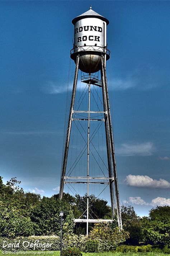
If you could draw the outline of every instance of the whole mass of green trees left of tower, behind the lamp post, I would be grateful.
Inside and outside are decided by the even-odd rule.
[[[71,206],[55,198],[26,192],[11,178],[4,185],[0,177],[0,236],[52,235],[60,232],[60,210],[64,211],[63,233],[72,233]]]

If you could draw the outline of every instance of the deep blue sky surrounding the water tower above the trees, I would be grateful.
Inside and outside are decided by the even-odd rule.
[[[74,68],[71,20],[90,4],[110,21],[107,71],[120,198],[147,215],[170,205],[169,1],[0,1],[1,176],[4,182],[16,176],[25,191],[58,193]]]

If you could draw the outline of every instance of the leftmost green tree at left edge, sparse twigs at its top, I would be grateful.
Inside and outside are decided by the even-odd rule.
[[[21,200],[24,198],[23,190],[16,186],[15,178],[7,184],[3,185],[0,177],[0,236],[15,237],[34,234],[33,224]]]

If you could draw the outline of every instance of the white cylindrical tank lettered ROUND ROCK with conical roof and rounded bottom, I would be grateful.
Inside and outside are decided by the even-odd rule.
[[[108,19],[90,10],[72,20],[74,24],[74,48],[71,58],[76,62],[80,55],[79,69],[85,73],[94,73],[101,68],[101,54],[109,59],[106,43]]]

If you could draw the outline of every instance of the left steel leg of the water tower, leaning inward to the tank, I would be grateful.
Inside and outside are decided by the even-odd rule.
[[[74,101],[75,101],[75,94],[76,94],[77,77],[78,77],[78,71],[79,71],[79,59],[80,59],[80,56],[77,55],[75,74],[74,74],[74,82],[73,82],[73,88],[72,88],[72,96],[71,96],[69,122],[68,122],[68,126],[67,126],[65,152],[64,152],[62,171],[61,171],[60,193],[59,193],[60,199],[62,199],[62,196],[63,196],[64,179],[65,179],[65,175],[66,175],[66,166],[67,166],[67,156],[68,156],[68,151],[69,151],[71,123],[72,123],[72,115],[73,115],[73,108],[74,108]]]

